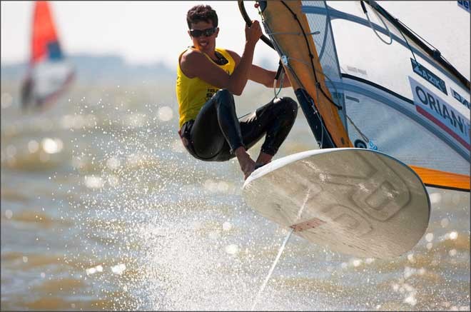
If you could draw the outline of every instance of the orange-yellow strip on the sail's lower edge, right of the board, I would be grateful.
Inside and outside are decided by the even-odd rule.
[[[419,166],[410,166],[426,186],[450,188],[457,191],[470,191],[470,176],[440,171]]]

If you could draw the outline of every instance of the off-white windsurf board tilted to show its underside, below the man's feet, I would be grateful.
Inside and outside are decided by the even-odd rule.
[[[247,178],[243,198],[296,235],[360,257],[410,251],[430,218],[417,174],[368,149],[320,149],[276,159]]]

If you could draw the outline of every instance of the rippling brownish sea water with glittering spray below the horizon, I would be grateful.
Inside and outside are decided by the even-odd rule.
[[[293,234],[270,272],[289,229],[243,202],[237,161],[183,149],[173,88],[76,84],[21,114],[2,81],[1,310],[249,310],[268,273],[256,310],[470,310],[469,193],[428,188],[430,224],[402,256]],[[240,115],[270,101],[260,88]],[[300,113],[276,157],[315,148]]]

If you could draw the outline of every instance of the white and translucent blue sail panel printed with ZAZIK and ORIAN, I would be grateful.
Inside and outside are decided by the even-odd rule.
[[[313,39],[318,51],[325,51],[321,63],[333,80],[330,91],[342,94],[345,101],[350,140],[410,165],[469,174],[470,93],[463,79],[378,17],[372,7],[365,5],[366,16],[358,2],[332,6],[335,9],[323,1],[303,1],[311,31],[320,31]],[[408,8],[406,3],[402,6]],[[453,9],[455,14],[466,14],[456,11],[457,6]],[[331,43],[323,36],[330,32],[327,16]],[[462,25],[462,20],[456,21],[455,27]],[[468,14],[467,29],[469,24]],[[469,37],[457,39],[454,46],[467,49],[469,55]],[[336,59],[341,79],[332,71],[335,66],[328,64]]]

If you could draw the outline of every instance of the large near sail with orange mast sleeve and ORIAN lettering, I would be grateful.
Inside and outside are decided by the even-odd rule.
[[[259,4],[321,148],[377,149],[427,186],[470,190],[469,74],[375,1]],[[453,1],[433,5],[448,16],[441,34],[462,29],[449,42],[469,69],[469,13]]]

